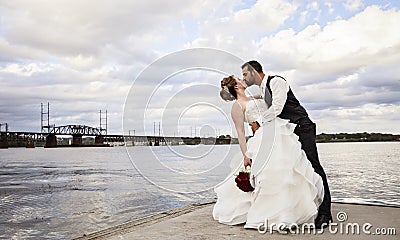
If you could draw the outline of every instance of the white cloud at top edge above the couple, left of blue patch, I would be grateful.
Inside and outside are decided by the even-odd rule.
[[[239,56],[254,54],[255,39],[281,27],[297,8],[295,2],[286,0],[257,1],[250,8],[203,22],[200,35],[186,47],[216,47]]]

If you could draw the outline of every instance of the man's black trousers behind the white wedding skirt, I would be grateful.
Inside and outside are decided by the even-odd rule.
[[[318,158],[316,138],[316,126],[308,117],[302,118],[296,122],[297,126],[294,133],[299,136],[301,148],[307,155],[308,160],[314,168],[314,171],[321,176],[324,183],[324,200],[319,207],[318,214],[331,215],[331,193],[329,191],[328,180],[324,169]]]

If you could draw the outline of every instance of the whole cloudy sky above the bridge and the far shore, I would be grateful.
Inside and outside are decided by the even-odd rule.
[[[399,22],[397,0],[0,0],[0,123],[40,131],[50,102],[56,126],[235,135],[218,85],[256,59],[318,133],[398,134]]]

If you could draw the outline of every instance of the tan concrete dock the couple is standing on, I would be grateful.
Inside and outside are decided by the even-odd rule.
[[[323,232],[301,227],[278,232],[220,224],[212,217],[213,206],[188,205],[77,239],[400,239],[398,207],[333,203],[334,223]]]

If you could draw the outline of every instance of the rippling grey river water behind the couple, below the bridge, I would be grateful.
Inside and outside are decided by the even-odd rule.
[[[400,206],[400,143],[318,144],[333,201]],[[0,150],[0,238],[71,239],[215,201],[238,145]]]

